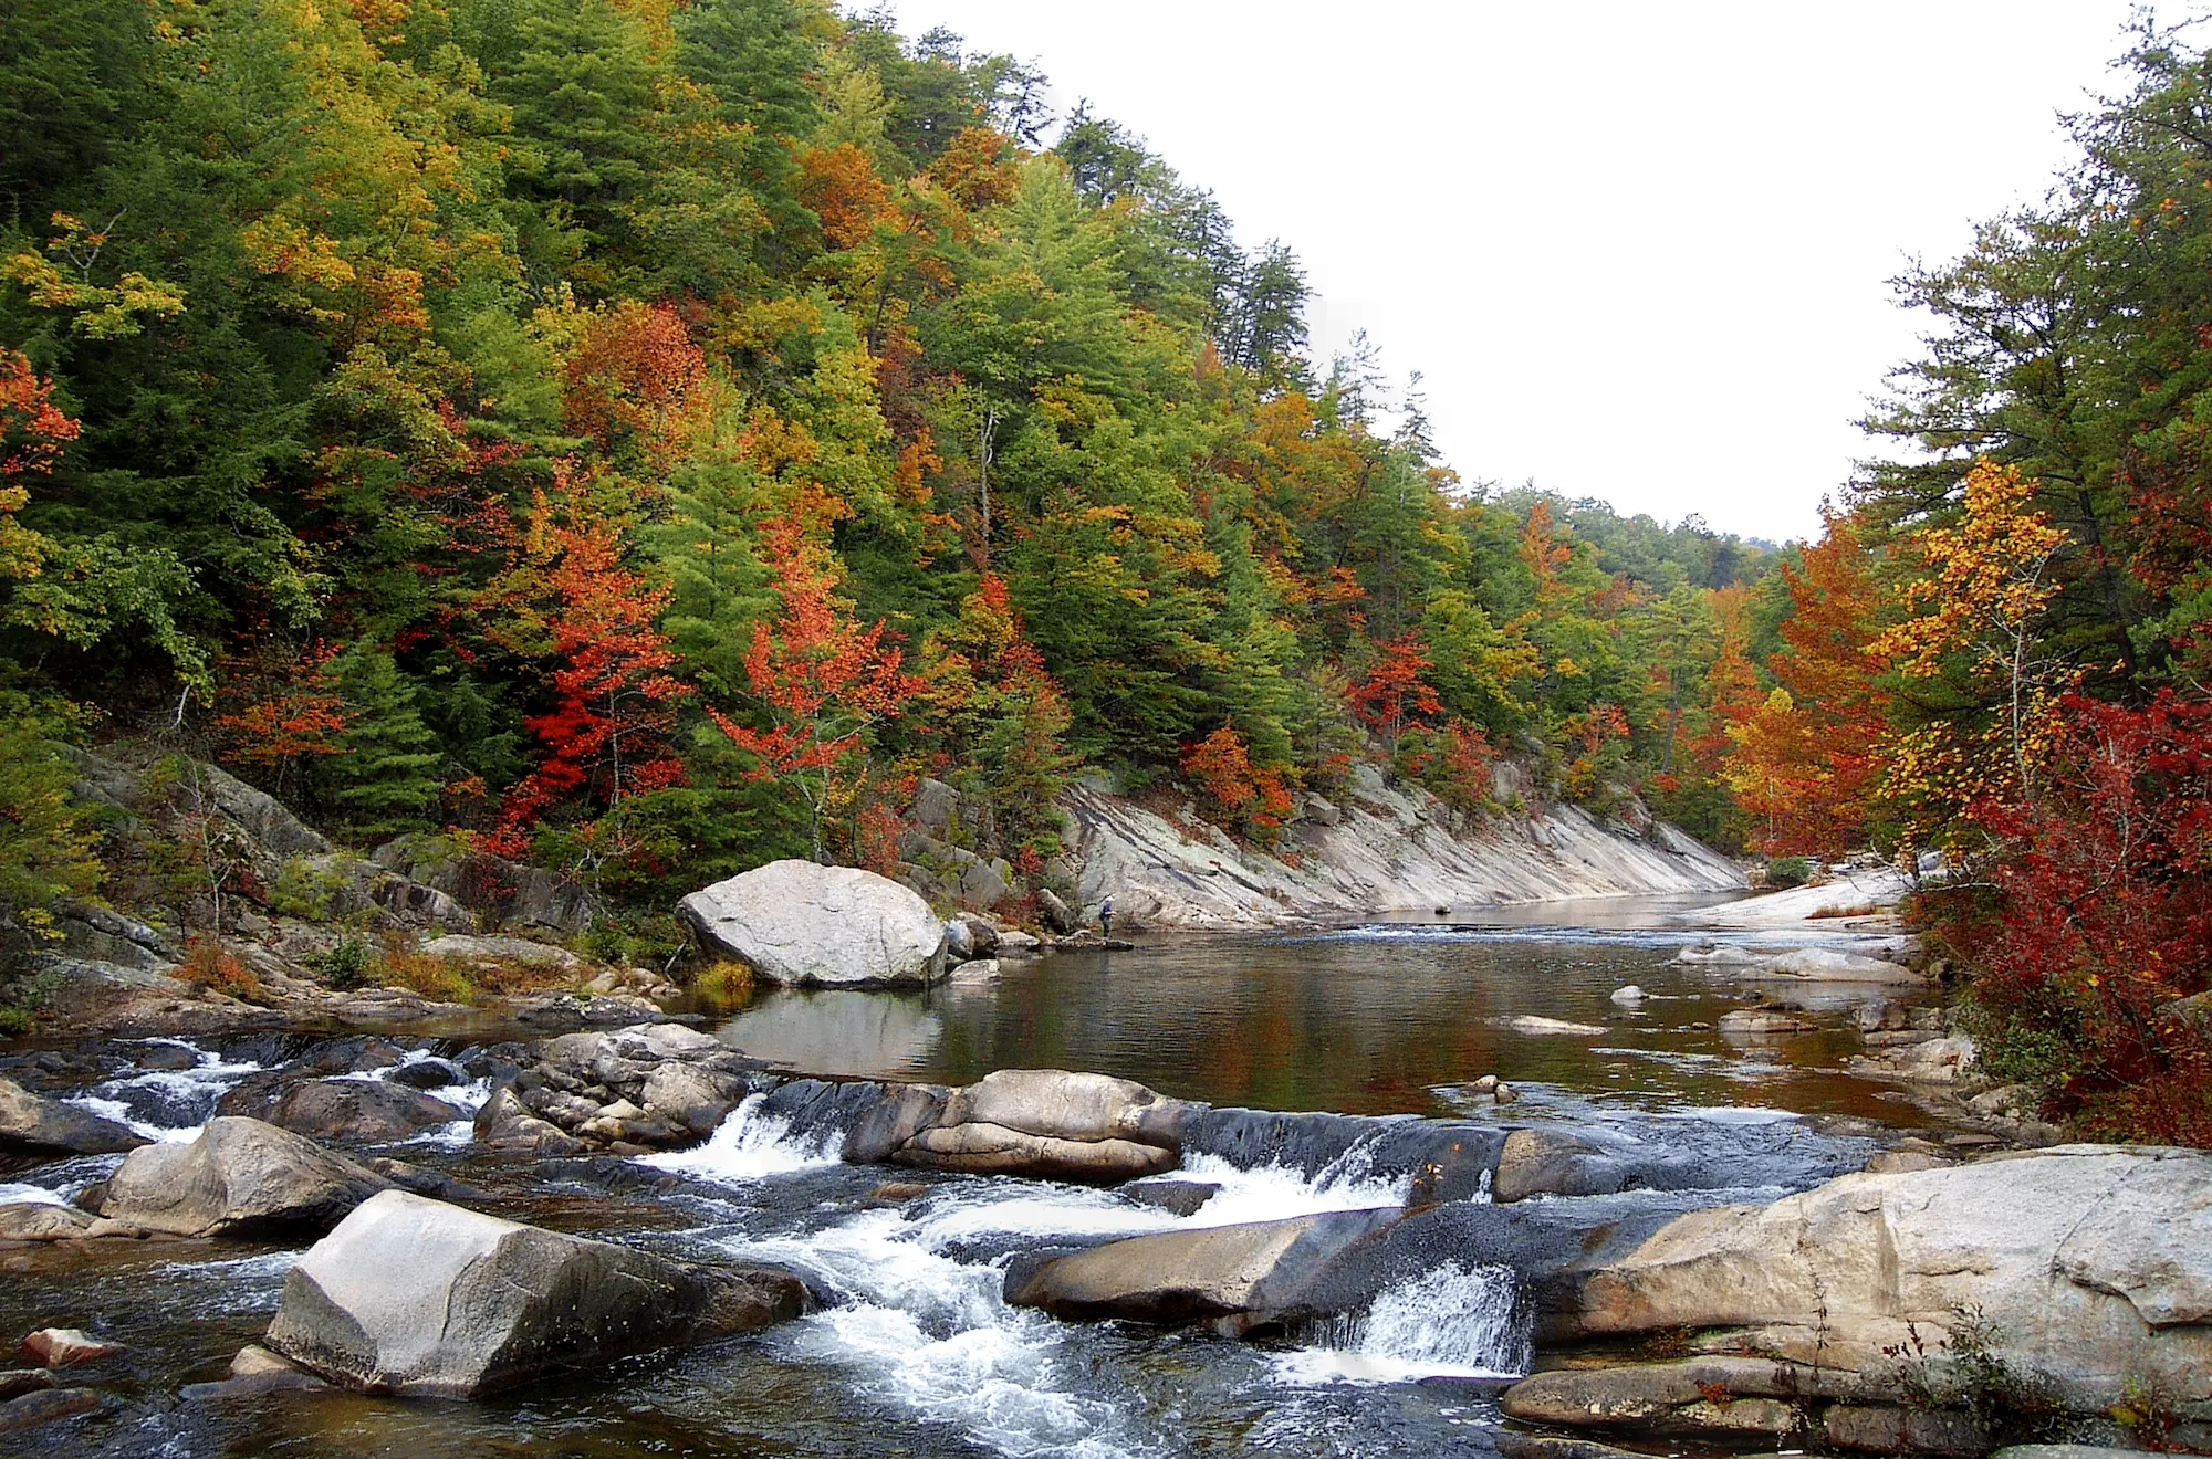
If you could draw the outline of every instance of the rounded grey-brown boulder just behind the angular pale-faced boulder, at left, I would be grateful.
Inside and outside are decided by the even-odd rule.
[[[188,1145],[142,1145],[82,1203],[175,1236],[327,1231],[392,1180],[257,1119],[208,1121]]]

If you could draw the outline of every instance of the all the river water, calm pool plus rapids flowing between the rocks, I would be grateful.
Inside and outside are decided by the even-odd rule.
[[[1006,1262],[1040,1247],[1402,1205],[1438,1130],[1409,1116],[1601,1132],[1655,1172],[1652,1189],[1606,1198],[1621,1209],[1774,1198],[1854,1169],[1871,1150],[1865,1116],[1913,1119],[1836,1070],[1856,1048],[1843,1028],[1781,1046],[1723,1041],[1712,1021],[1741,1006],[1741,988],[1670,966],[1683,940],[1590,920],[1398,924],[1006,964],[995,986],[927,997],[765,995],[728,1015],[723,1037],[807,1072],[958,1083],[1057,1066],[1214,1105],[1363,1119],[1307,1121],[1310,1138],[1274,1143],[1263,1161],[1245,1138],[1263,1116],[1212,1116],[1177,1178],[1219,1194],[1190,1216],[1124,1192],[847,1167],[841,1130],[810,1127],[770,1094],[695,1150],[635,1161],[493,1163],[467,1147],[465,1125],[394,1145],[387,1154],[476,1183],[498,1214],[670,1256],[776,1262],[818,1298],[812,1315],[765,1333],[509,1395],[188,1393],[265,1326],[296,1256],[276,1247],[11,1253],[0,1331],[88,1326],[128,1344],[115,1384],[128,1402],[75,1424],[69,1448],[84,1455],[1489,1455],[1493,1393],[1531,1362],[1511,1251],[1447,1253],[1387,1282],[1360,1313],[1243,1344],[1011,1309]],[[1613,1001],[1624,984],[1646,999]],[[1854,997],[1867,993],[1805,1001],[1832,1004],[1814,1017],[1840,1026]],[[1522,1015],[1604,1035],[1500,1024]],[[465,1046],[407,1059],[467,1063]],[[71,1057],[80,1103],[155,1138],[188,1138],[226,1088],[301,1057],[301,1041],[108,1041]],[[60,1070],[49,1088],[69,1077],[40,1068]],[[1522,1103],[1473,1092],[1491,1072],[1520,1085]],[[480,1081],[438,1090],[462,1108],[484,1092]],[[0,1198],[66,1198],[113,1165],[13,1169]],[[887,1178],[927,1192],[872,1198]],[[1486,1189],[1467,1196],[1480,1203]]]

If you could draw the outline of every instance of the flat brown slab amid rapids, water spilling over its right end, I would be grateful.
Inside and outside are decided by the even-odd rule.
[[[1303,1311],[1305,1293],[1349,1247],[1389,1229],[1402,1209],[1325,1211],[1201,1231],[1161,1231],[1060,1256],[1009,1273],[1006,1302],[1077,1322],[1194,1322],[1230,1331]]]

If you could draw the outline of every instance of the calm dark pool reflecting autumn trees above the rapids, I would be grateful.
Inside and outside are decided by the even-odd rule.
[[[1847,1012],[1880,988],[1767,984],[1767,997],[1812,1010],[1820,1032],[1732,1043],[1714,1024],[1752,986],[1674,964],[1710,935],[1666,926],[1677,911],[1615,902],[1486,913],[1484,924],[1152,937],[1135,953],[1006,959],[995,984],[927,995],[761,993],[721,1037],[821,1074],[967,1083],[995,1068],[1099,1070],[1265,1110],[1451,1114],[1464,1110],[1455,1085],[1495,1072],[1531,1105],[1573,1096],[1918,1121],[1840,1072],[1858,1050]],[[1626,984],[1648,997],[1615,1004]],[[1520,1015],[1606,1032],[1500,1026]]]

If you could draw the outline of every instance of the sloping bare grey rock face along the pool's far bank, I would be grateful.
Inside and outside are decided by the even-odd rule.
[[[1371,767],[1345,805],[1307,816],[1276,856],[1219,829],[1183,827],[1095,787],[1062,800],[1082,900],[1113,898],[1144,926],[1279,926],[1347,913],[1498,906],[1571,898],[1739,891],[1743,873],[1666,822],[1641,836],[1577,807],[1467,818]]]

